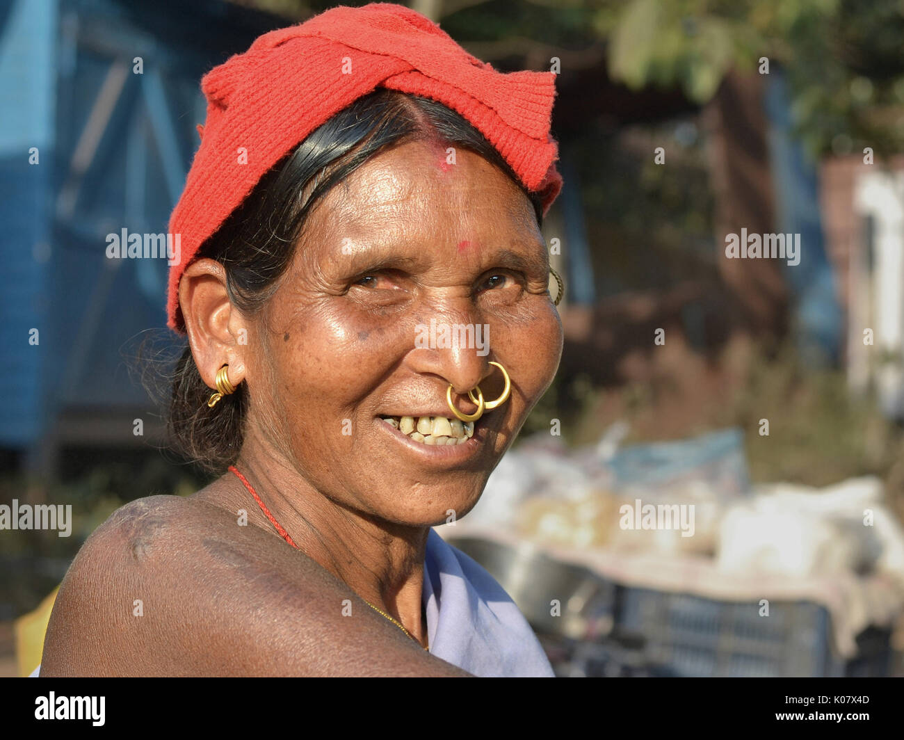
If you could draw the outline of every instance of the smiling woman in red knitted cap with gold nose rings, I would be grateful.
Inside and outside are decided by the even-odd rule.
[[[221,477],[99,527],[41,675],[552,675],[431,527],[475,506],[559,364],[553,79],[397,5],[268,33],[204,78],[170,425]]]

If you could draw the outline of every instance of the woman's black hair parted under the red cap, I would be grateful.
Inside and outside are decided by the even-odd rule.
[[[542,220],[539,194],[529,192],[499,152],[456,111],[435,100],[377,90],[355,100],[315,129],[261,177],[197,252],[221,262],[230,300],[251,316],[267,303],[291,263],[307,215],[334,185],[381,151],[408,141],[436,141],[484,157],[510,176]],[[181,320],[181,316],[180,316]],[[204,470],[221,473],[238,457],[250,398],[247,384],[212,409],[205,384],[186,346],[179,357],[169,398],[171,444]]]

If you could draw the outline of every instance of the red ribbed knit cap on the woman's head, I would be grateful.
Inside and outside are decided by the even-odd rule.
[[[529,191],[541,194],[546,213],[562,185],[550,135],[554,82],[553,72],[495,71],[401,5],[336,7],[260,36],[201,81],[207,98],[201,147],[169,223],[170,233],[181,234],[181,259],[170,267],[167,326],[184,332],[183,270],[261,176],[315,128],[378,87],[456,110]],[[239,164],[246,157],[247,164]]]

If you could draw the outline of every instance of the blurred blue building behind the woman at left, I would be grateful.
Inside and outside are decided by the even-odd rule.
[[[29,469],[159,436],[127,358],[165,327],[166,260],[110,260],[107,235],[166,232],[202,74],[284,24],[214,0],[0,0],[0,449]]]

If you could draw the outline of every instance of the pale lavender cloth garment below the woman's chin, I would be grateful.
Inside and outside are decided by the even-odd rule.
[[[468,673],[552,678],[550,661],[503,587],[434,530],[424,558],[430,653]],[[37,678],[41,666],[29,678]]]

